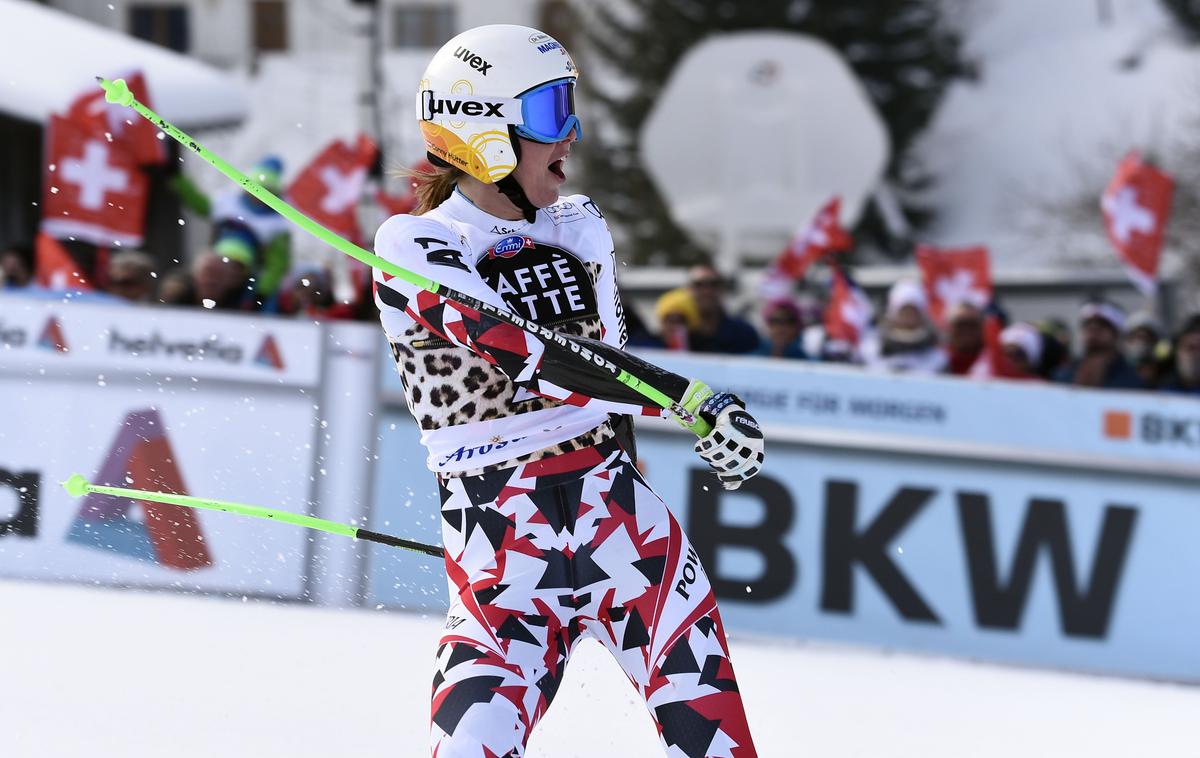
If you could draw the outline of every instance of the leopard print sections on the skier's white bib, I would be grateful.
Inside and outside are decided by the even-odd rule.
[[[583,267],[595,287],[600,266],[583,261]],[[557,324],[546,319],[541,323],[572,337],[600,339],[604,333],[599,317],[570,319]],[[490,421],[563,404],[520,390],[499,368],[469,350],[433,335],[420,324],[412,324],[404,330],[401,339],[391,342],[391,354],[400,368],[400,381],[404,387],[408,409],[422,431],[470,421]],[[512,458],[503,464],[461,471],[452,476],[478,476],[486,471],[592,447],[611,439],[613,434],[612,427],[604,423],[592,432]]]

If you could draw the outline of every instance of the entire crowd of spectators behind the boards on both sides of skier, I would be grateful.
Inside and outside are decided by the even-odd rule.
[[[251,231],[226,225],[190,265],[164,275],[146,253],[113,252],[97,259],[97,270],[90,275],[91,296],[314,319],[376,318],[366,276],[348,287],[352,297],[342,299],[334,295],[331,271],[312,263],[294,264],[282,275],[274,271],[268,275],[274,283],[264,287],[268,258],[263,248]],[[271,260],[277,269],[278,257]],[[0,252],[0,282],[5,288],[36,289],[31,246]],[[824,333],[822,303],[811,295],[767,302],[761,309],[761,332],[731,312],[726,296],[726,282],[715,269],[694,266],[685,287],[658,299],[653,329],[641,323],[634,308],[625,308],[630,347],[1200,395],[1200,313],[1184,319],[1172,335],[1151,314],[1130,317],[1105,300],[1084,302],[1074,330],[1057,320],[1007,324],[995,303],[980,308],[959,302],[948,307],[938,324],[923,285],[901,279],[888,291],[877,323],[852,344]],[[997,321],[998,333],[991,345],[990,320]],[[994,350],[1000,355],[990,355]],[[984,363],[986,371],[980,372]]]

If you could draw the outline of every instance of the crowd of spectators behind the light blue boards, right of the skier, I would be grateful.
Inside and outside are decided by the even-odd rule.
[[[811,296],[772,300],[762,307],[760,333],[730,312],[720,275],[700,265],[689,271],[685,287],[659,297],[656,327],[631,315],[630,344],[852,363],[895,373],[1200,395],[1200,313],[1184,319],[1172,335],[1150,313],[1127,315],[1103,299],[1080,305],[1074,330],[1057,319],[1008,323],[997,303],[958,302],[938,324],[924,287],[901,279],[888,290],[882,314],[858,344],[829,338],[822,314]],[[989,329],[995,329],[991,344]]]

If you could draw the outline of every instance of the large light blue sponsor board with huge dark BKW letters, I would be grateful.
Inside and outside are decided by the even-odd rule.
[[[1193,482],[782,444],[726,493],[638,449],[732,630],[1200,681]]]

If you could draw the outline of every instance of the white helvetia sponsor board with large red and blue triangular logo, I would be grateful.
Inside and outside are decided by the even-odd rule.
[[[80,473],[311,512],[319,419],[305,385],[319,377],[319,336],[248,315],[0,301],[0,576],[301,597],[304,529],[77,499],[60,482]],[[217,347],[179,348],[204,339]]]

